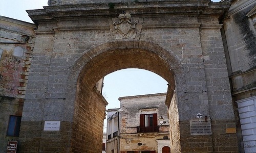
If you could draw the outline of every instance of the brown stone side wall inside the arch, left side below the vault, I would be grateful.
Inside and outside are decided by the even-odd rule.
[[[101,152],[102,147],[95,146],[102,146],[106,101],[96,88],[80,89],[76,99],[72,152]]]

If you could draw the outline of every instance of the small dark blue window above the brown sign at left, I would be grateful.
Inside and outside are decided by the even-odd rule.
[[[14,116],[14,115],[10,116],[8,129],[7,129],[7,136],[18,137],[21,121],[22,121],[22,116]]]

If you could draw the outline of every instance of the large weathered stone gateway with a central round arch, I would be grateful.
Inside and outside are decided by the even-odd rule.
[[[171,152],[236,152],[237,136],[226,132],[236,124],[218,21],[228,7],[59,0],[29,10],[38,29],[19,151],[100,152],[107,103],[95,84],[142,68],[169,83]],[[59,131],[45,131],[45,121],[60,121]]]

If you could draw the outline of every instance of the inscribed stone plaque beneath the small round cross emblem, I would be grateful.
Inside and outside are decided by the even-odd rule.
[[[210,119],[190,119],[191,135],[211,135]]]

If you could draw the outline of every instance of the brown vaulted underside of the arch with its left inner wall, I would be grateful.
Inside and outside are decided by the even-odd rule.
[[[170,100],[175,95],[175,75],[172,70],[175,59],[165,59],[166,54],[169,53],[163,49],[155,49],[161,48],[111,48],[100,54],[96,51],[94,57],[90,59],[83,57],[86,63],[80,71],[76,87],[71,142],[74,151],[101,151],[105,105],[108,103],[95,85],[111,72],[125,68],[140,68],[158,74],[168,83],[166,104],[170,104]],[[175,116],[178,117],[178,111],[176,112]]]

